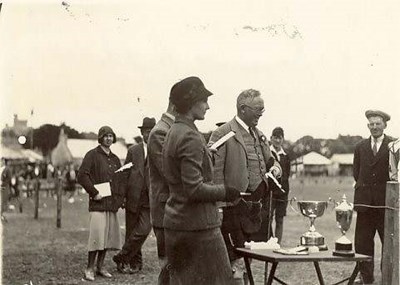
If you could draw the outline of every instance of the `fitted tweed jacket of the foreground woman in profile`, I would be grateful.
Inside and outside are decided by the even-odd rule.
[[[225,200],[225,187],[213,183],[205,139],[184,117],[177,117],[165,137],[163,167],[170,190],[164,228],[197,231],[219,227],[216,201]]]

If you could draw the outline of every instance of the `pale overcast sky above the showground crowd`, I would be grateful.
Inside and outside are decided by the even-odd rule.
[[[191,3],[193,2],[193,3]],[[1,127],[110,125],[128,141],[157,120],[171,86],[199,76],[214,93],[200,130],[261,91],[260,129],[286,138],[368,136],[364,112],[400,131],[398,1],[3,1]],[[31,109],[34,115],[30,116]]]

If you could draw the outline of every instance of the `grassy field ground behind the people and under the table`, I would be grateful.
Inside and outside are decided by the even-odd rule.
[[[351,178],[306,178],[291,182],[290,197],[298,200],[327,200],[332,197],[339,200],[346,194],[352,202]],[[43,197],[42,197],[43,196]],[[159,266],[156,254],[156,242],[153,234],[147,239],[143,248],[144,267],[140,273],[132,275],[118,274],[109,252],[106,257],[106,268],[113,273],[112,280],[96,278],[95,282],[83,281],[83,269],[86,266],[86,243],[88,237],[87,195],[76,196],[73,204],[63,197],[62,227],[56,228],[56,201],[40,197],[39,220],[34,220],[34,207],[31,199],[23,200],[24,212],[7,212],[8,222],[2,225],[2,283],[1,284],[156,284]],[[295,205],[295,204],[294,204]],[[297,209],[297,207],[294,207]],[[124,225],[124,212],[119,211],[120,225]],[[348,237],[354,236],[355,215]],[[288,207],[285,218],[283,247],[293,247],[299,237],[308,229],[309,221]],[[325,236],[330,249],[340,236],[336,227],[333,205],[325,215],[316,220],[317,230]],[[125,230],[122,229],[123,234]],[[375,274],[376,283],[380,284],[380,251],[379,239],[376,239]],[[327,284],[335,283],[348,277],[353,263],[321,263],[321,270]],[[256,284],[263,284],[264,263],[253,261],[253,274]],[[318,284],[312,263],[281,263],[277,276],[289,284]]]

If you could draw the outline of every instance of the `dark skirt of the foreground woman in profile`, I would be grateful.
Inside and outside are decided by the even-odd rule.
[[[202,231],[165,229],[170,284],[228,285],[232,269],[220,228]]]

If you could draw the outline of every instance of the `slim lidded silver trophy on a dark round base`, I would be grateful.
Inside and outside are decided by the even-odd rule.
[[[353,217],[353,204],[348,203],[346,195],[343,195],[342,202],[335,207],[336,222],[342,232],[342,236],[335,242],[335,256],[354,256],[353,243],[346,237],[346,232],[350,229]]]

